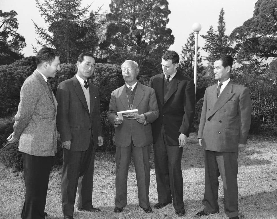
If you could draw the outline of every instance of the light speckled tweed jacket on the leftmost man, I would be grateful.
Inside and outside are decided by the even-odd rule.
[[[52,98],[51,98],[52,96]],[[20,91],[15,115],[14,137],[19,151],[35,156],[54,156],[57,152],[57,102],[38,71],[26,78]]]

